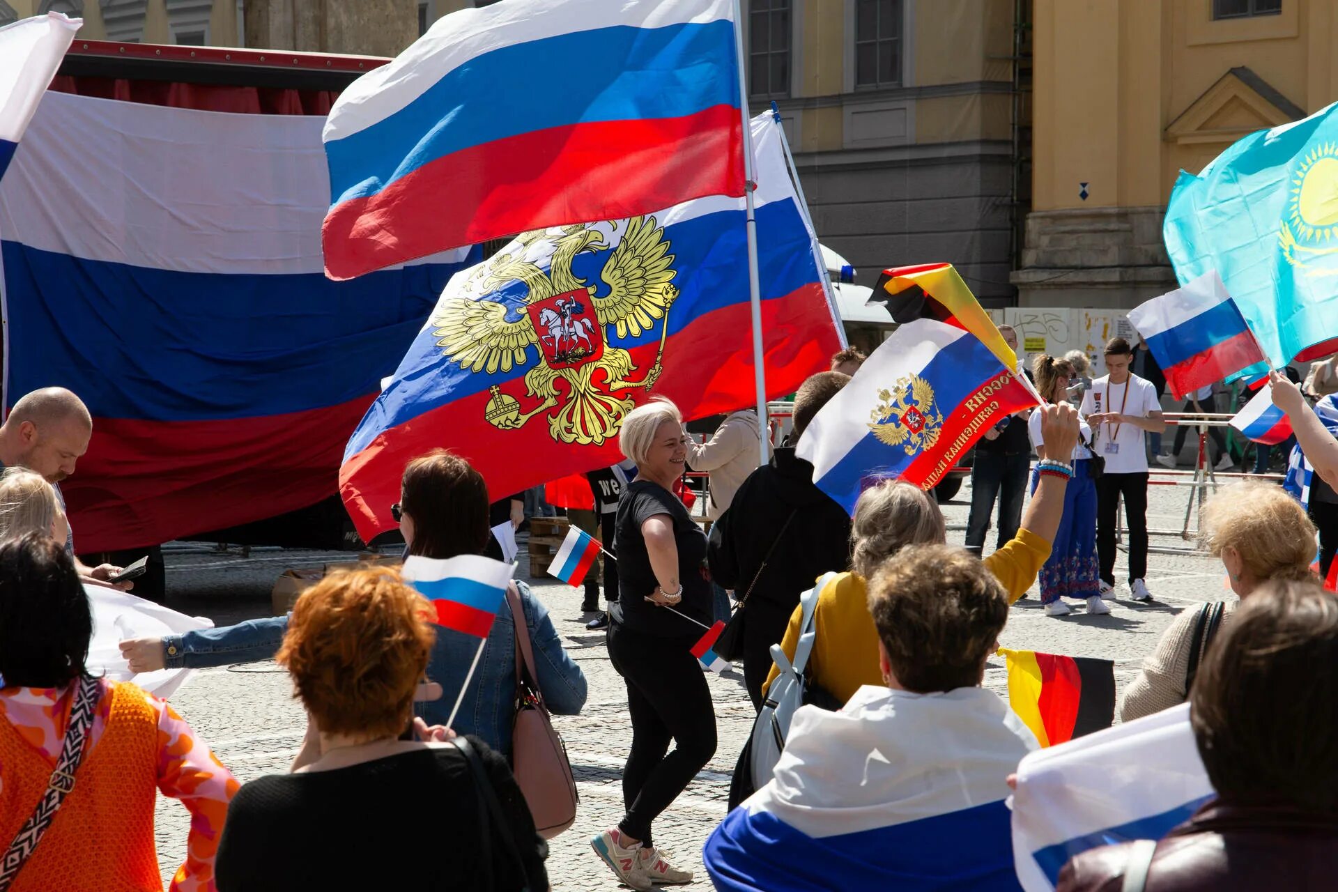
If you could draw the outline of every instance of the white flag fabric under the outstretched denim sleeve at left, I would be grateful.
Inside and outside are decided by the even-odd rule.
[[[88,643],[88,671],[112,681],[134,682],[143,690],[167,699],[190,675],[189,669],[159,669],[155,673],[132,673],[120,655],[119,643],[127,638],[162,638],[181,635],[193,629],[211,629],[213,621],[187,617],[126,591],[103,586],[84,586],[92,607],[92,641]]]

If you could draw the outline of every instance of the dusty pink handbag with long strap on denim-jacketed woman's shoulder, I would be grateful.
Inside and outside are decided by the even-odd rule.
[[[524,793],[534,828],[551,840],[577,820],[577,782],[567,761],[567,748],[553,730],[549,707],[534,671],[530,629],[524,623],[520,592],[506,590],[515,623],[515,715],[511,719],[511,773]]]

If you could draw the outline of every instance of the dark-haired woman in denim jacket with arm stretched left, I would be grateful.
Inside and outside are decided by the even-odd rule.
[[[454,558],[482,554],[487,547],[488,493],[483,476],[468,461],[436,449],[415,459],[404,469],[400,504],[396,506],[400,531],[408,554],[425,558]],[[534,649],[534,670],[539,691],[549,711],[575,715],[585,706],[586,679],[581,667],[562,649],[562,639],[553,627],[543,603],[520,580],[524,623]],[[183,635],[134,639],[120,643],[122,653],[135,671],[162,667],[202,669],[257,659],[269,659],[278,650],[288,629],[288,617],[248,619],[235,626],[202,629]],[[428,681],[438,682],[446,694],[436,701],[415,703],[415,714],[428,725],[442,725],[450,718],[455,695],[460,690],[478,638],[436,629],[436,642],[428,662]],[[452,729],[459,734],[476,734],[488,746],[511,754],[511,715],[515,703],[515,623],[511,611],[498,611],[479,667],[464,691],[464,701]]]

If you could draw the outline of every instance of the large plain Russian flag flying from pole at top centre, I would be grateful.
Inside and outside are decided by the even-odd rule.
[[[325,126],[325,269],[743,195],[732,0],[529,0],[440,19]]]

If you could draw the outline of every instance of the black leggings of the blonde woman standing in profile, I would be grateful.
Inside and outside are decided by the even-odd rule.
[[[632,753],[622,769],[628,812],[618,829],[648,848],[650,822],[716,754],[716,706],[692,655],[697,638],[656,638],[622,623],[609,626],[609,659],[628,683],[632,717]]]

